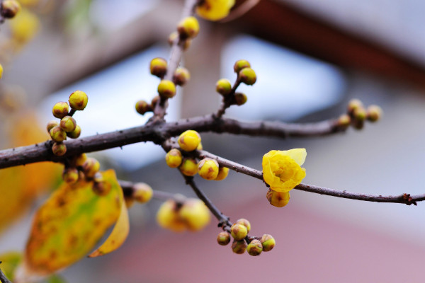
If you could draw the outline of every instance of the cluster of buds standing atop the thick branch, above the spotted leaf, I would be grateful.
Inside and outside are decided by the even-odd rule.
[[[60,122],[55,120],[47,123],[47,132],[55,143],[52,146],[52,152],[56,156],[63,156],[67,152],[67,146],[63,143],[67,137],[77,139],[81,134],[81,127],[72,117],[77,110],[84,110],[89,98],[83,91],[75,91],[69,96],[68,103],[61,101],[53,106],[53,116],[60,119]],[[71,110],[69,110],[69,107]]]

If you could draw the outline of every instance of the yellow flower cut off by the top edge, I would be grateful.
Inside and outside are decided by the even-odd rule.
[[[205,0],[196,7],[196,13],[201,18],[218,21],[225,18],[234,5],[234,0]]]

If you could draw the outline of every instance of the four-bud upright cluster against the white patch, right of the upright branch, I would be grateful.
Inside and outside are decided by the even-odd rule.
[[[244,93],[235,92],[240,83],[252,86],[256,82],[256,74],[251,69],[251,64],[246,60],[238,60],[234,63],[234,72],[237,74],[237,80],[232,86],[228,79],[220,79],[215,84],[215,91],[223,96],[225,105],[244,105],[247,97]]]

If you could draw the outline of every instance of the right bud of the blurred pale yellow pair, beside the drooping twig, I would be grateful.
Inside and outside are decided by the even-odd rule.
[[[186,200],[179,210],[179,216],[190,231],[200,231],[210,223],[210,210],[198,199]]]

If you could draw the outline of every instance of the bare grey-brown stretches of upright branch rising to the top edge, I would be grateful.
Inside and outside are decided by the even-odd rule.
[[[183,8],[183,12],[181,18],[186,18],[188,16],[193,16],[193,11],[195,9],[198,0],[186,0],[185,6]],[[179,38],[178,40],[174,40],[171,45],[170,59],[167,67],[166,74],[164,79],[172,81],[174,71],[176,71],[177,67],[179,67],[181,61],[181,55],[184,51],[185,40]],[[166,115],[166,108],[168,107],[168,98],[160,97],[159,103],[155,105],[154,109],[154,117],[152,117],[152,121],[161,121],[164,120],[164,116]]]

